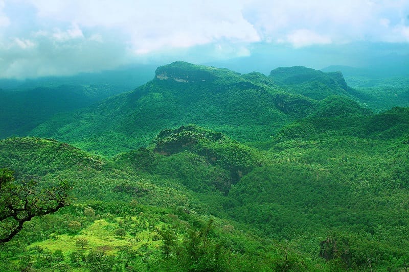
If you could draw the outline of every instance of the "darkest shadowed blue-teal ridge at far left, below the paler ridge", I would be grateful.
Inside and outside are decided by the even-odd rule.
[[[52,88],[0,90],[0,139],[25,136],[55,114],[86,107],[112,95],[110,89],[103,85],[60,85]]]

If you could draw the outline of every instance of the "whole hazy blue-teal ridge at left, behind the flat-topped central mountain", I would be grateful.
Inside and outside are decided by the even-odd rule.
[[[132,90],[150,80],[153,71],[153,67],[145,65],[71,77],[0,79],[0,139],[27,135],[56,114]]]

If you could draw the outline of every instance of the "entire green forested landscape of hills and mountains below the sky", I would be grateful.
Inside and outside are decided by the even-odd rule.
[[[335,68],[3,88],[0,270],[406,271],[407,78]]]

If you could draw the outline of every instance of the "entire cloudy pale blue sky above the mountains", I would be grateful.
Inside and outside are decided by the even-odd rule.
[[[0,78],[178,60],[318,69],[391,54],[409,55],[409,0],[0,0]]]

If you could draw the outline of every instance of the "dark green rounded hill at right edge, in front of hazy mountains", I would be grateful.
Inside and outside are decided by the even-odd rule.
[[[294,138],[317,139],[325,136],[401,139],[409,135],[408,108],[393,108],[379,114],[371,114],[351,101],[352,105],[346,109],[346,105],[340,104],[342,98],[331,97],[328,100],[330,104],[317,110],[316,114],[285,126],[276,135],[276,141]],[[341,111],[342,114],[332,116],[333,113]]]

